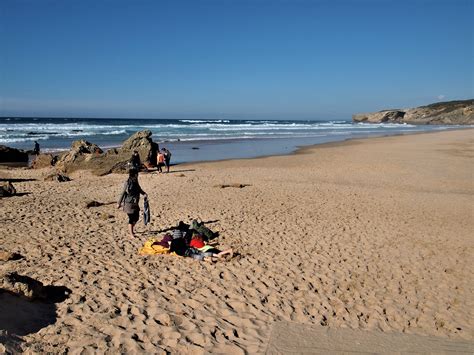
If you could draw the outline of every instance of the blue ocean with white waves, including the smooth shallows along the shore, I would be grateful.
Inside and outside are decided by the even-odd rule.
[[[173,153],[173,163],[288,154],[298,147],[352,138],[459,129],[463,126],[367,124],[349,120],[193,120],[98,118],[0,118],[0,144],[42,152],[68,150],[85,139],[106,150],[148,129]],[[464,126],[465,127],[465,126]]]

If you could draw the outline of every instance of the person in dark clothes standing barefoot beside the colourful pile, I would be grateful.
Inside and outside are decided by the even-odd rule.
[[[138,170],[132,168],[128,172],[128,179],[125,182],[117,204],[117,208],[123,205],[124,212],[128,214],[128,232],[131,237],[135,237],[134,228],[140,216],[140,207],[138,205],[140,194],[147,197],[146,192],[142,190],[138,183]]]

